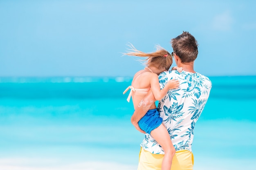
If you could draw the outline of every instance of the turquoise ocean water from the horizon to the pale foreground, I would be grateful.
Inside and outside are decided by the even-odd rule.
[[[256,169],[256,76],[209,77],[194,170]],[[136,170],[131,77],[0,77],[0,170]]]

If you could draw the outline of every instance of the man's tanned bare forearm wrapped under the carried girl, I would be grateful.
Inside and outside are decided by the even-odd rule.
[[[150,106],[155,102],[155,97],[152,91],[148,91],[146,96],[141,100],[141,102],[135,108],[135,111],[131,117],[131,122],[133,126],[139,130],[141,133],[145,133],[143,130],[139,128],[138,121],[146,115],[147,111],[149,110]]]

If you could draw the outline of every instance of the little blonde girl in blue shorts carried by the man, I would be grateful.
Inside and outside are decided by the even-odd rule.
[[[132,85],[128,86],[124,93],[131,89],[127,101],[132,102],[134,108],[141,102],[148,91],[151,89],[156,100],[161,100],[169,89],[177,88],[179,86],[178,80],[171,79],[161,90],[159,85],[158,75],[163,71],[167,71],[173,63],[172,56],[168,51],[160,46],[157,46],[157,51],[153,53],[144,53],[130,46],[130,52],[125,55],[133,55],[138,57],[148,57],[146,59],[146,67],[135,73],[132,79]],[[182,71],[182,68],[173,67],[172,70],[177,69]],[[123,93],[123,94],[124,94]],[[164,150],[164,159],[162,161],[162,170],[170,170],[173,156],[175,155],[175,148],[172,144],[171,138],[166,127],[162,124],[162,118],[157,111],[156,105],[150,106],[150,110],[142,117],[138,125],[141,130],[150,134],[160,144]]]

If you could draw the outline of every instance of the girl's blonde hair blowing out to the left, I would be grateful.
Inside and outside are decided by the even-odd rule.
[[[148,57],[144,60],[144,64],[146,66],[155,66],[159,69],[164,68],[168,70],[173,64],[171,54],[159,45],[155,46],[156,51],[152,53],[144,53],[142,51],[139,51],[132,44],[127,44],[127,46],[129,46],[130,49],[128,49],[129,51],[127,53],[124,53],[124,55]]]

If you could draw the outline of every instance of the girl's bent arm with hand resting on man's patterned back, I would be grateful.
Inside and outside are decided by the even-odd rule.
[[[168,81],[168,83],[161,90],[158,75],[153,74],[153,76],[150,79],[151,91],[152,91],[156,100],[161,100],[167,94],[169,89],[177,88],[179,85],[180,84],[179,84],[178,80],[171,79],[170,81]]]

